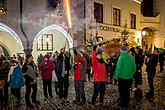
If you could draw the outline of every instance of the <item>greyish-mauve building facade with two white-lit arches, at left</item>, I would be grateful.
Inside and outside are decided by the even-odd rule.
[[[73,47],[65,1],[2,0],[0,15],[1,54],[12,56],[59,51]],[[57,3],[56,3],[57,2]],[[70,4],[70,2],[69,2]]]

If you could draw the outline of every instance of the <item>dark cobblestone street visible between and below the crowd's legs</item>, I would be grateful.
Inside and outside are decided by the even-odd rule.
[[[69,97],[68,100],[59,100],[58,96],[55,94],[54,84],[53,86],[53,98],[44,99],[42,82],[38,82],[38,96],[37,99],[40,100],[40,105],[35,106],[35,110],[90,110],[91,109],[91,97],[93,93],[92,82],[85,83],[86,99],[87,102],[84,106],[76,105],[72,103],[75,98],[75,90],[73,86],[73,77],[70,77],[70,87],[69,87]],[[146,79],[146,73],[143,72],[143,95],[148,90],[148,84]],[[16,100],[13,96],[9,96],[9,106],[4,108],[4,110],[27,110],[24,101],[24,91],[22,88],[22,101],[21,106],[16,107]],[[10,91],[10,90],[9,90]],[[98,110],[120,110],[121,108],[117,105],[118,99],[118,87],[117,85],[108,85],[106,90],[106,96],[103,106],[97,105]],[[133,98],[133,92],[131,92],[131,102],[129,110],[165,110],[165,72],[157,73],[155,77],[155,99],[147,100],[145,97],[141,101],[136,101]]]

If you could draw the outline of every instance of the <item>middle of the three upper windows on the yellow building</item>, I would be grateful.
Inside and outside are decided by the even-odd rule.
[[[120,26],[120,9],[113,8],[113,25]]]

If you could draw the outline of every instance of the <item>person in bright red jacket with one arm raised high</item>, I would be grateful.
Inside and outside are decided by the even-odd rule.
[[[95,102],[100,93],[100,104],[103,103],[105,90],[106,90],[106,83],[108,82],[108,74],[106,71],[105,63],[102,58],[102,50],[97,49],[97,45],[93,46],[92,51],[92,67],[94,71],[93,75],[93,83],[94,83],[94,93],[92,96],[92,105],[95,107]]]

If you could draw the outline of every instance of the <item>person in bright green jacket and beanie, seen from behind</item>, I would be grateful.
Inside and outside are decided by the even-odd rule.
[[[132,78],[136,72],[135,59],[130,55],[125,46],[120,48],[119,56],[115,71],[115,79],[118,80],[119,99],[121,107],[128,107],[130,102],[130,90]]]

